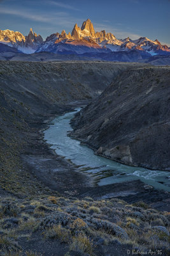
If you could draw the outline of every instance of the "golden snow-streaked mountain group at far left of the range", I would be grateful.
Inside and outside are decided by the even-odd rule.
[[[0,30],[0,43],[14,47],[20,52],[31,54],[43,43],[43,38],[35,32],[33,33],[32,29],[30,29],[27,36],[22,35],[18,31],[6,29]]]

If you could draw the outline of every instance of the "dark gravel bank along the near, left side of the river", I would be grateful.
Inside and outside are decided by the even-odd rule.
[[[68,108],[72,110],[71,108],[80,106],[82,102],[76,102]],[[62,114],[64,113],[66,110]],[[43,141],[43,132],[48,129],[51,122],[52,117],[41,124],[40,132],[36,134],[37,137],[34,137],[33,143],[27,148],[27,154],[22,155],[22,160],[25,168],[52,193],[57,191],[60,195],[77,198],[90,196],[96,200],[115,197],[126,200],[130,204],[142,200],[160,211],[169,210],[169,193],[147,186],[141,180],[96,186],[91,175],[80,172],[80,166],[64,156],[57,155],[55,150]]]

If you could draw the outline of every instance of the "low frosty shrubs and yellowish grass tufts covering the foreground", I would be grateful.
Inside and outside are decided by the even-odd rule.
[[[32,200],[1,199],[0,205],[1,255],[46,255],[39,246],[33,251],[35,237],[37,243],[55,241],[57,248],[64,248],[61,255],[99,255],[99,251],[104,255],[114,244],[141,252],[169,252],[168,212],[143,207],[143,202],[133,206],[118,199],[39,196]]]

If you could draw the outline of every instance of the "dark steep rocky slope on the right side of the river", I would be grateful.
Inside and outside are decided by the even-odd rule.
[[[72,136],[121,163],[170,170],[170,68],[121,74],[76,115]]]

